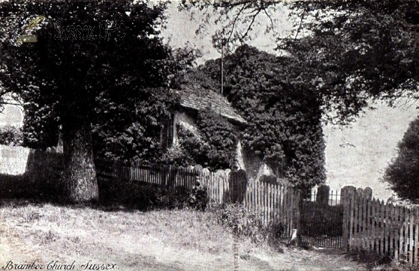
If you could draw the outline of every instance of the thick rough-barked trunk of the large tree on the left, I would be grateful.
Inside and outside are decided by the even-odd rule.
[[[64,192],[68,200],[73,203],[98,200],[90,122],[86,119],[66,119],[63,147]]]

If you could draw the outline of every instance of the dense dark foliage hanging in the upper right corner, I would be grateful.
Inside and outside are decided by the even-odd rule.
[[[416,98],[418,7],[411,0],[295,1],[293,15],[304,15],[295,29],[300,38],[279,48],[310,67],[329,119],[345,123],[371,98],[390,105],[400,96]]]

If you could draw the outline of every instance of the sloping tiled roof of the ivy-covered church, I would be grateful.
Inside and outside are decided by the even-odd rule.
[[[217,94],[211,89],[184,86],[182,89],[177,90],[177,92],[180,94],[180,105],[184,108],[205,110],[205,108],[210,107],[212,110],[227,119],[240,122],[242,124],[246,123],[242,116],[235,112],[225,97]]]

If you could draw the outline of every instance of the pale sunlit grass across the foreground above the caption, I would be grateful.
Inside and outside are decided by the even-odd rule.
[[[0,268],[13,264],[63,264],[89,270],[234,270],[235,237],[212,212],[151,212],[3,201]],[[257,247],[238,241],[238,270],[365,270],[341,254],[297,247]],[[57,262],[54,262],[57,261]],[[103,265],[104,267],[106,265]],[[99,266],[100,267],[100,266]]]

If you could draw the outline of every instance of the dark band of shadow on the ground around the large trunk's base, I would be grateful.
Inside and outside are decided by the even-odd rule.
[[[126,180],[98,180],[99,200],[91,203],[69,203],[64,196],[64,185],[56,180],[34,182],[25,175],[0,174],[0,200],[13,206],[29,204],[61,205],[72,208],[91,207],[107,212],[149,211],[191,207],[204,210],[206,193],[189,189],[173,191],[157,184]]]

